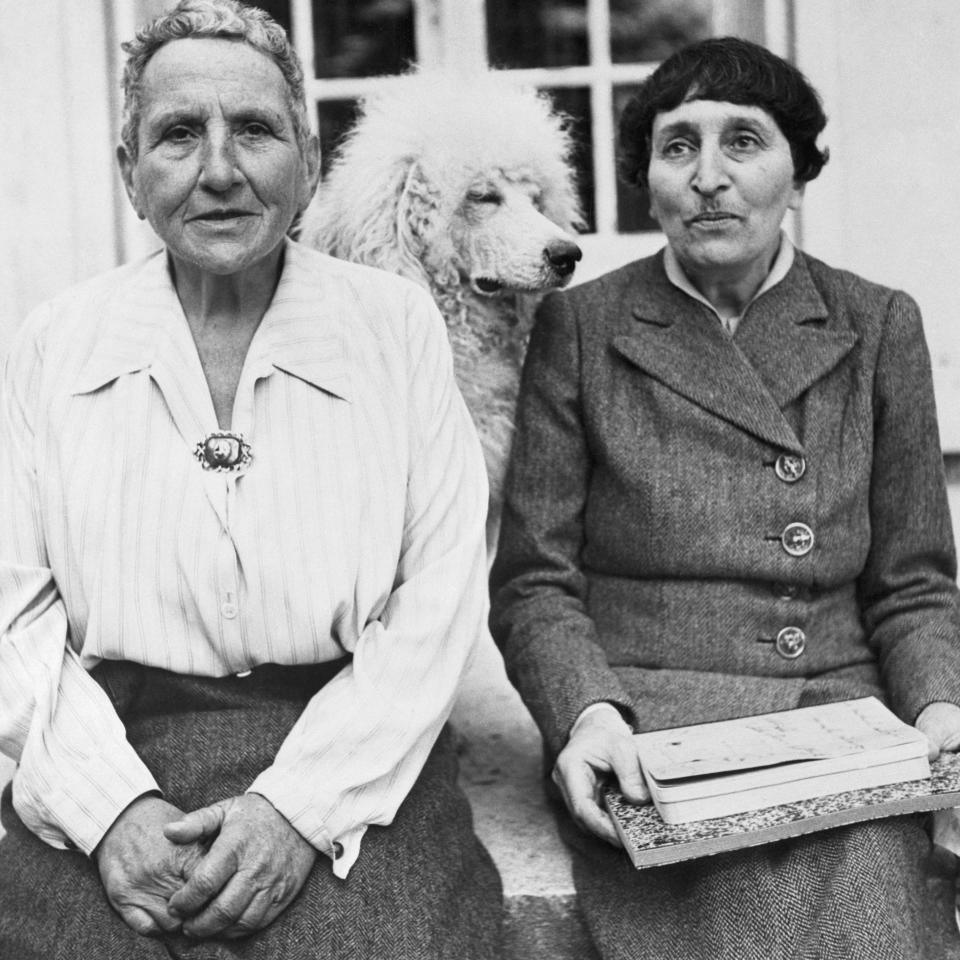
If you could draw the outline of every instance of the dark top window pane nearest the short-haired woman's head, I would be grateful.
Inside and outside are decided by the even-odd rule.
[[[416,58],[413,0],[314,0],[318,77],[401,73]]]

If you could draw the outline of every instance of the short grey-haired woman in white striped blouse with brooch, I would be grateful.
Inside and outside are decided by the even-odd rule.
[[[183,0],[125,49],[165,250],[39,308],[3,384],[0,955],[494,957],[444,731],[486,484],[443,322],[286,239],[318,152],[275,23]]]

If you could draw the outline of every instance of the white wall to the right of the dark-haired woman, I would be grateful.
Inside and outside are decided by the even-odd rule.
[[[797,62],[823,94],[832,152],[807,188],[804,247],[919,302],[944,448],[960,453],[960,3],[794,9]]]

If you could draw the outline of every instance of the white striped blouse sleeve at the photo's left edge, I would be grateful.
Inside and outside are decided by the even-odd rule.
[[[81,664],[48,566],[33,409],[43,360],[26,333],[45,310],[11,351],[0,396],[0,750],[18,763],[13,802],[26,826],[51,846],[90,853],[157,784]]]

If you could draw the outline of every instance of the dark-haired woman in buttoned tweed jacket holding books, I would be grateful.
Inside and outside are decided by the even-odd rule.
[[[946,923],[913,818],[645,871],[602,842],[604,776],[645,800],[631,730],[874,695],[934,752],[960,735],[917,308],[781,232],[824,124],[762,47],[671,57],[621,122],[666,248],[552,296],[532,336],[491,623],[606,958],[916,958]]]

